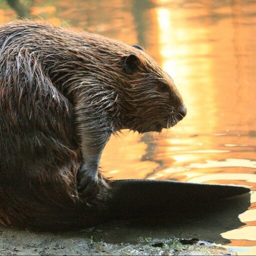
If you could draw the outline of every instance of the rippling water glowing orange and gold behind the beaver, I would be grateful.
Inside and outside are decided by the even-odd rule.
[[[34,0],[30,14],[143,45],[184,98],[187,116],[168,131],[111,137],[107,176],[256,189],[255,0]],[[15,18],[1,0],[0,23]],[[240,255],[256,253],[256,192],[250,202],[244,225],[219,229]]]

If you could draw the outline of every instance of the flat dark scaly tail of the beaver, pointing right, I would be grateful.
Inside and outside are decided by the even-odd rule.
[[[111,218],[127,218],[168,212],[179,215],[193,208],[225,204],[225,199],[248,193],[234,185],[188,183],[171,180],[124,179],[111,183],[106,206]],[[235,205],[234,205],[235,207]]]

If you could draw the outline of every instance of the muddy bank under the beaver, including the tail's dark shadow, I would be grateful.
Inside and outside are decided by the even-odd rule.
[[[0,226],[0,255],[235,255],[217,247],[220,233],[243,223],[249,194],[175,216],[112,221],[75,232],[34,232]],[[195,238],[192,241],[185,239]],[[185,241],[184,241],[185,240]],[[206,242],[213,241],[213,242]]]

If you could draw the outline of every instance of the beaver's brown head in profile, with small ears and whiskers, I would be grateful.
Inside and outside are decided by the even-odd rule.
[[[125,73],[124,128],[140,133],[175,125],[186,115],[186,107],[171,77],[137,45],[123,57]]]

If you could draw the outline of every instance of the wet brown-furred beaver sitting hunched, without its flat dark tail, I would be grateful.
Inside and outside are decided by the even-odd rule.
[[[98,221],[111,134],[160,132],[186,114],[142,47],[29,20],[0,26],[0,109],[0,222],[45,229]]]

